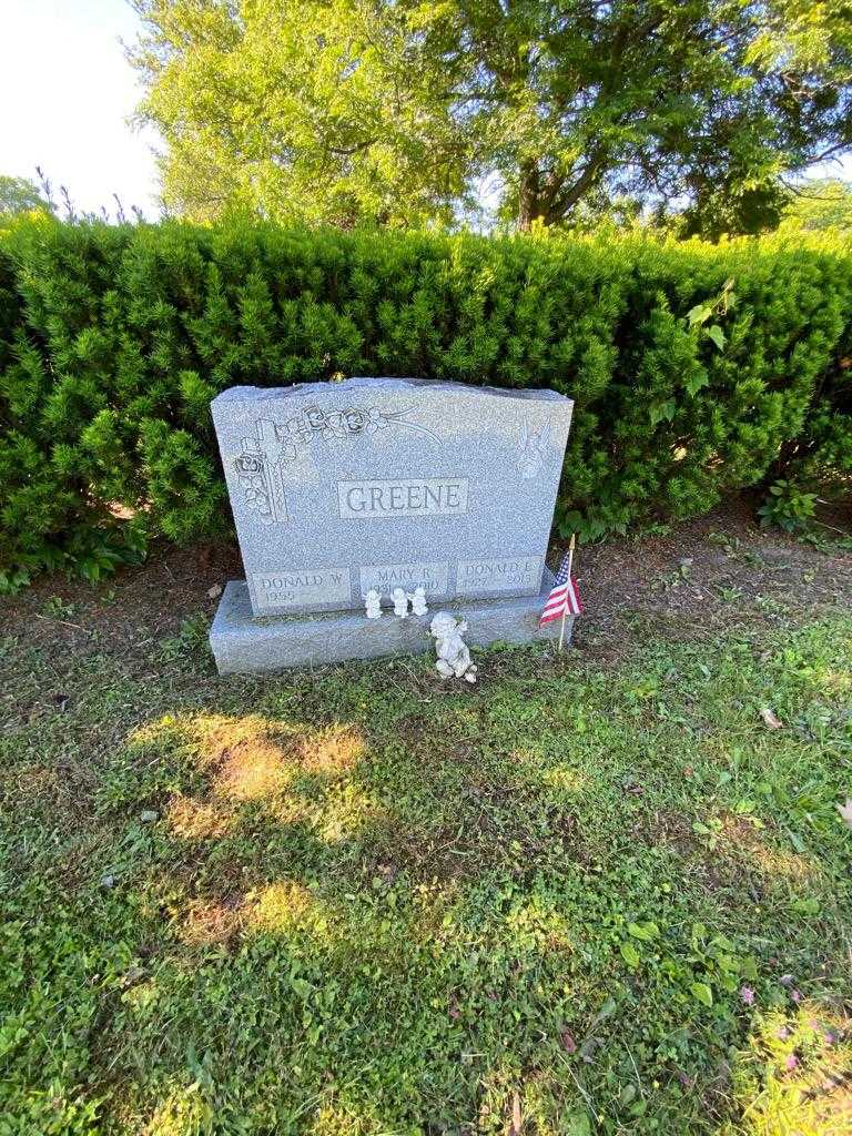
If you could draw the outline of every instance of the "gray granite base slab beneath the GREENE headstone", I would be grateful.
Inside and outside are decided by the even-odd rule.
[[[210,628],[210,648],[220,675],[320,667],[389,654],[421,654],[434,652],[429,623],[437,611],[467,619],[465,642],[470,648],[558,640],[559,620],[538,627],[538,616],[552,586],[553,576],[545,569],[538,595],[436,602],[426,616],[399,619],[386,611],[381,619],[367,619],[364,612],[339,611],[257,618],[252,616],[245,580],[231,580]],[[574,617],[568,616],[566,643],[570,641],[573,624]]]

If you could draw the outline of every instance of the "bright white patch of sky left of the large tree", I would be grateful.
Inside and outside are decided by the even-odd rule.
[[[132,130],[140,99],[124,58],[139,19],[125,0],[0,0],[0,174],[50,177],[81,210],[112,194],[159,212],[157,134]]]

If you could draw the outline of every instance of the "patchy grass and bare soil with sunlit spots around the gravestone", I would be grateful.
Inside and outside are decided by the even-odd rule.
[[[726,524],[473,688],[3,601],[0,1136],[852,1131],[852,557]]]

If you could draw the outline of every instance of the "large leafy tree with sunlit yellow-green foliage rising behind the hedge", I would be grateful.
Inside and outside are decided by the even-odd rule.
[[[783,181],[852,150],[849,0],[134,0],[164,195],[354,224],[591,200],[777,220]]]

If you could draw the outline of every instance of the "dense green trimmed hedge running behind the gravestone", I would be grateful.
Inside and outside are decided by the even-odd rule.
[[[722,350],[687,312],[728,278]],[[852,256],[544,237],[0,231],[0,586],[231,525],[208,403],[343,374],[576,400],[558,524],[595,536],[852,470]],[[127,519],[130,516],[131,519]]]

